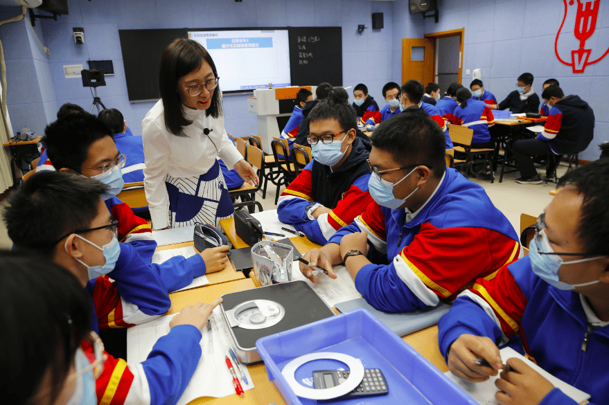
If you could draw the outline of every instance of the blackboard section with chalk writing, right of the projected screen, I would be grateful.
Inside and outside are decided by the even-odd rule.
[[[290,27],[292,86],[342,86],[342,28]]]

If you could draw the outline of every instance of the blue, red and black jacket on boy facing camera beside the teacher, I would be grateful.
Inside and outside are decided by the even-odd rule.
[[[279,197],[277,215],[284,224],[292,224],[310,240],[325,244],[334,233],[353,222],[373,200],[368,191],[369,152],[360,138],[353,150],[334,172],[327,165],[312,160]],[[317,219],[310,213],[317,206],[330,208]]]

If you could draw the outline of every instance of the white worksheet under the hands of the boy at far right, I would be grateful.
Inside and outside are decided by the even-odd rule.
[[[516,352],[512,348],[503,348],[499,352],[501,354],[501,361],[504,364],[508,359],[511,359],[512,357],[516,357],[517,359],[524,361],[525,363],[527,363],[527,365],[531,366],[533,370],[540,373],[540,375],[550,381],[552,385],[554,385],[556,388],[559,388],[561,391],[563,391],[563,393],[568,395],[578,404],[581,404],[585,400],[590,399],[590,395],[584,393],[581,390],[578,390],[574,386],[570,386],[569,384],[565,383],[565,381],[554,377],[549,372],[543,370],[532,361],[524,358],[520,353]],[[447,371],[444,374],[459,387],[463,388],[466,393],[471,395],[471,397],[473,397],[473,399],[475,399],[478,404],[499,405],[499,402],[497,402],[497,399],[495,399],[495,393],[497,393],[497,391],[499,390],[495,386],[495,380],[499,378],[499,375],[491,377],[482,383],[470,383],[468,381],[460,379],[456,375],[452,374],[452,372],[450,371]]]

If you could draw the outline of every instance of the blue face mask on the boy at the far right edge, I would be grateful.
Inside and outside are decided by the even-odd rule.
[[[591,282],[584,282],[582,284],[572,285],[568,282],[563,282],[559,280],[558,269],[560,269],[563,264],[567,265],[581,262],[590,262],[591,260],[597,260],[603,258],[604,256],[573,260],[572,262],[563,262],[563,259],[558,255],[544,255],[539,253],[537,247],[537,240],[541,244],[540,249],[543,249],[543,252],[554,253],[554,251],[552,250],[552,246],[547,240],[545,231],[541,231],[540,233],[538,233],[538,237],[536,237],[535,240],[531,240],[531,243],[529,244],[529,258],[531,258],[531,267],[533,269],[533,273],[535,273],[539,278],[547,282],[549,285],[553,285],[554,287],[562,290],[570,290],[575,289],[577,287],[585,287],[586,285],[593,285],[597,284],[597,282],[601,282],[601,280],[594,280]]]

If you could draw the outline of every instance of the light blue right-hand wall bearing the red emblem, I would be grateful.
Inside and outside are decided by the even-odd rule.
[[[570,66],[558,61],[554,39],[563,20],[563,0],[438,0],[438,8],[439,23],[427,19],[425,33],[465,28],[465,86],[472,80],[466,69],[481,68],[484,89],[503,100],[515,89],[521,73],[533,74],[538,94],[545,80],[556,78],[565,94],[577,94],[594,109],[594,140],[580,157],[599,158],[598,144],[609,141],[609,56],[588,66],[585,73],[572,73]],[[563,33],[573,30],[565,23]],[[586,45],[595,50],[609,48],[608,1],[601,1],[597,29]]]

